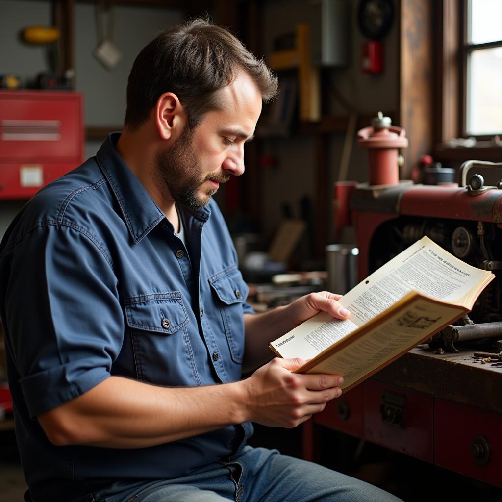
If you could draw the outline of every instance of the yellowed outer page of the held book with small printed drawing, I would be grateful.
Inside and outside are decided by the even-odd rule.
[[[307,371],[302,368],[297,371],[341,374],[344,379],[342,389],[348,389],[460,317],[463,312],[465,309],[461,307],[416,297],[403,307],[396,308],[381,322],[377,320],[361,328],[359,337],[354,333],[349,343],[340,343],[340,348],[324,360],[321,354],[321,361]]]

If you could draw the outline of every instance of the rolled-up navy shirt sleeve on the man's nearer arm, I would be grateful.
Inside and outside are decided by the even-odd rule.
[[[110,375],[123,342],[123,311],[110,256],[75,225],[41,223],[5,254],[11,260],[3,271],[3,321],[35,417]]]

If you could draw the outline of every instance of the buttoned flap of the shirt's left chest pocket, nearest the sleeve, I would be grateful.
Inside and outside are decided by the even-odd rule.
[[[130,297],[125,304],[131,328],[171,334],[188,324],[188,314],[178,291]]]

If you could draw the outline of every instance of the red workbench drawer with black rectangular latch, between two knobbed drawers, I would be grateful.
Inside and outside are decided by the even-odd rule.
[[[364,438],[432,462],[433,398],[374,380],[362,389]]]

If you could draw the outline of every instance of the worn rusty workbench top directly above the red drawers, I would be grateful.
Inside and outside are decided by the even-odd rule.
[[[433,397],[502,413],[502,368],[474,362],[473,350],[414,348],[371,378]]]

